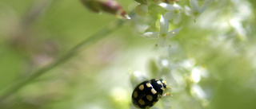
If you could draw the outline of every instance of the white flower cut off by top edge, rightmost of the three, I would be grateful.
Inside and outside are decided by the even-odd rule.
[[[214,0],[205,0],[205,2],[202,4],[201,7],[198,6],[198,0],[190,0],[190,6],[185,6],[185,12],[188,16],[194,16],[194,21],[198,17],[198,15],[202,14],[206,8],[210,6],[211,3],[213,3]]]

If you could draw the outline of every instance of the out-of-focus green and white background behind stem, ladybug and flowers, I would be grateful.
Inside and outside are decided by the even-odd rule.
[[[126,12],[137,5],[118,2]],[[174,97],[164,97],[154,109],[255,109],[255,3],[216,0],[196,23],[182,15],[179,25],[170,25],[182,30],[164,53],[154,47],[156,40],[136,32],[136,24],[146,21],[132,18],[1,99],[0,109],[134,108],[133,71],[162,77],[173,88]],[[90,12],[79,0],[0,0],[0,96],[117,20]]]

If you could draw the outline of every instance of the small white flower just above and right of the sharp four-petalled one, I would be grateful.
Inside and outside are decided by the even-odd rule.
[[[159,6],[162,6],[162,8],[166,9],[168,12],[164,15],[164,18],[166,18],[168,21],[174,18],[174,24],[178,24],[181,21],[181,13],[182,13],[182,7],[178,6],[178,4],[174,3],[174,6],[169,5],[167,3],[160,3]]]

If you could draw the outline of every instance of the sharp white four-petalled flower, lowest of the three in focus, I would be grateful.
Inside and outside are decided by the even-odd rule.
[[[168,40],[171,37],[174,37],[181,28],[174,29],[168,32],[169,22],[166,18],[161,15],[160,18],[160,32],[146,32],[142,35],[142,37],[146,37],[148,39],[159,39],[158,44],[156,46],[166,47],[170,45],[170,41]]]

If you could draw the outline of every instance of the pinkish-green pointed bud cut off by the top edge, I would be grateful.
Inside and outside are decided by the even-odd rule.
[[[109,14],[114,14],[118,18],[130,19],[126,14],[126,11],[123,10],[122,6],[115,0],[81,0],[84,6],[89,10],[99,13],[104,11]]]

